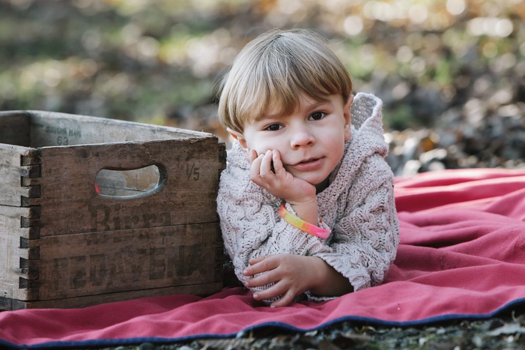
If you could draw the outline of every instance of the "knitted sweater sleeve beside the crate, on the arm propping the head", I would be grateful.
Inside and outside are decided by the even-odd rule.
[[[225,248],[237,278],[244,282],[243,270],[250,258],[268,254],[312,255],[330,252],[325,240],[303,232],[283,220],[278,213],[281,200],[251,182],[246,170],[229,164],[220,176],[217,212]],[[293,213],[293,208],[287,204]],[[260,291],[266,285],[254,288]]]

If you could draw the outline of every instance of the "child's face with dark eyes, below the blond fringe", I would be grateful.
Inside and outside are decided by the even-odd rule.
[[[278,115],[270,106],[264,118],[235,133],[240,145],[257,155],[278,150],[289,173],[312,185],[321,184],[340,162],[344,142],[350,140],[350,105],[340,94],[314,100],[303,94],[299,106],[287,115]]]

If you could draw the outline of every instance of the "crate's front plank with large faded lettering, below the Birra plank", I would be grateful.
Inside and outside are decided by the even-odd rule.
[[[220,282],[217,232],[212,222],[41,237],[39,299]]]

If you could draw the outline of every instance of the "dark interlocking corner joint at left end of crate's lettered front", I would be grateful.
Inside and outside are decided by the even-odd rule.
[[[27,207],[27,216],[20,217],[20,228],[27,229],[27,236],[20,237],[20,249],[24,256],[19,259],[18,288],[25,289],[28,300],[38,299],[38,263],[40,259],[40,206],[33,204],[33,198],[40,197],[39,179],[41,160],[38,150],[20,156],[20,185],[27,189],[27,196],[21,196],[20,206]]]

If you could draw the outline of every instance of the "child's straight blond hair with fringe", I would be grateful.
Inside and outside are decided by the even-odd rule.
[[[327,41],[305,29],[270,30],[250,41],[235,58],[219,87],[220,123],[243,132],[272,103],[293,111],[301,93],[322,100],[352,93],[352,80]],[[275,103],[275,104],[274,104]]]

